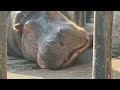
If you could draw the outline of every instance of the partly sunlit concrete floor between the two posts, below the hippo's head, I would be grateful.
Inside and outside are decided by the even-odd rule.
[[[74,65],[61,70],[40,69],[25,59],[8,61],[8,79],[85,79],[91,78],[91,65]]]

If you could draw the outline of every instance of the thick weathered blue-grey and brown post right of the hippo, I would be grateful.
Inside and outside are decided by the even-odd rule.
[[[111,79],[112,11],[94,12],[93,79]]]

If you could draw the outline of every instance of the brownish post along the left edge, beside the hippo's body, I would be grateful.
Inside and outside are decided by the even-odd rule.
[[[7,79],[6,11],[0,11],[0,79]]]

